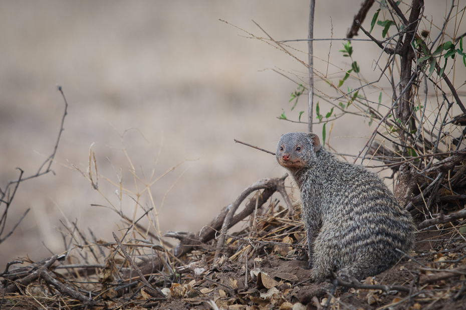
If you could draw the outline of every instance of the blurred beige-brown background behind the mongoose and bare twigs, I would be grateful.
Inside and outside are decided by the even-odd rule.
[[[317,2],[315,38],[344,38],[360,3]],[[424,16],[441,27],[450,3],[425,3]],[[366,29],[377,9],[374,4],[363,24]],[[62,223],[76,222],[81,231],[88,233],[89,228],[111,241],[111,233],[125,224],[112,210],[91,204],[120,208],[118,188],[105,178],[118,184],[121,175],[124,188],[142,192],[143,182],[134,181],[132,166],[147,182],[176,166],[150,187],[162,234],[198,231],[250,184],[283,176],[274,156],[234,139],[275,151],[281,134],[306,131],[306,124],[277,119],[284,109],[297,120],[299,111],[307,111],[307,95],[290,111],[288,100],[297,85],[273,69],[306,81],[307,68],[219,19],[259,37],[267,36],[252,20],[275,40],[306,39],[309,2],[0,2],[2,189],[18,178],[17,167],[25,177],[34,175],[53,152],[64,112],[57,85],[69,103],[52,165],[55,174],[21,183],[18,189],[5,231],[26,209],[31,211],[0,244],[0,270],[16,257],[40,260],[50,256],[47,248],[62,252]],[[435,36],[439,32],[431,31]],[[374,29],[375,36],[380,33],[380,27]],[[307,62],[307,43],[289,44]],[[372,68],[378,47],[360,41],[353,46],[364,78],[377,79],[380,73]],[[338,52],[341,48],[341,41],[315,42],[316,69],[342,78],[339,68],[348,70],[350,62]],[[328,66],[327,59],[337,67]],[[462,83],[461,74],[457,78]],[[322,80],[316,79],[315,86],[336,95]],[[348,86],[358,83],[349,80]],[[320,107],[326,113],[331,106],[320,101]],[[314,131],[320,135],[322,126],[315,125]],[[356,154],[370,132],[367,122],[343,117],[335,122],[329,143]],[[100,193],[71,167],[87,173],[91,145]],[[147,196],[140,203],[150,207]],[[131,218],[143,213],[127,196],[121,208]]]

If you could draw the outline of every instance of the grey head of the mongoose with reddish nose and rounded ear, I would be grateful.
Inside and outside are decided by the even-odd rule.
[[[299,170],[309,167],[315,153],[321,149],[317,134],[289,132],[280,138],[277,145],[277,162],[287,169]]]

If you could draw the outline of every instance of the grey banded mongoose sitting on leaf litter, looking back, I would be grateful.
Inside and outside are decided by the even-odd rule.
[[[282,135],[276,153],[300,188],[302,217],[315,281],[331,276],[358,280],[395,265],[414,243],[415,226],[382,180],[342,162],[314,133]]]

